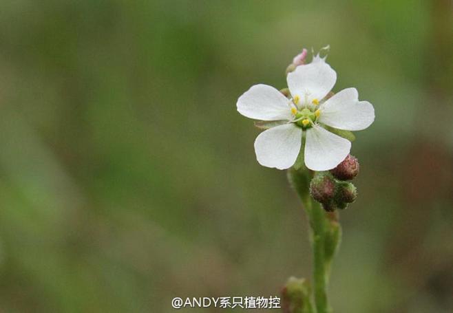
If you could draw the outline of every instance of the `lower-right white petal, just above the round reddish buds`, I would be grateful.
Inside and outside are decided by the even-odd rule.
[[[306,131],[304,158],[308,169],[327,171],[343,161],[350,151],[350,141],[326,131],[319,125]]]

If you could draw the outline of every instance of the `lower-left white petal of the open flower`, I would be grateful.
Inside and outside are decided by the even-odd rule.
[[[302,128],[285,124],[263,131],[255,140],[256,159],[261,165],[288,169],[302,145]]]

